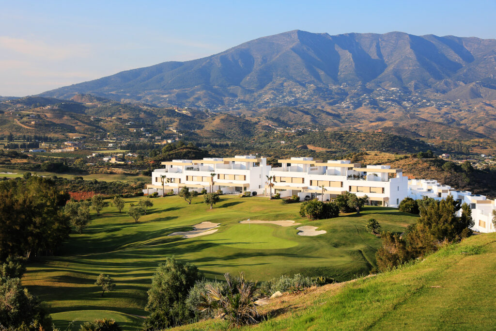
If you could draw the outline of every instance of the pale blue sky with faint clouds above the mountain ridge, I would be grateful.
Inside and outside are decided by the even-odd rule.
[[[496,39],[496,0],[0,0],[0,96],[166,61],[290,30]]]

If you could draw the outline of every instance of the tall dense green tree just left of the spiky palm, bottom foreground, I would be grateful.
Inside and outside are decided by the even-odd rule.
[[[196,266],[167,257],[157,267],[148,290],[145,310],[150,314],[144,330],[162,330],[188,323],[194,314],[187,308],[186,298],[200,278]]]

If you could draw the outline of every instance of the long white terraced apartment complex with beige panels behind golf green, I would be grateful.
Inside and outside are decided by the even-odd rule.
[[[248,191],[268,196],[272,190],[282,198],[298,195],[301,200],[331,200],[348,191],[357,196],[367,195],[373,205],[391,207],[397,207],[408,193],[407,177],[402,176],[401,169],[389,166],[362,168],[350,161],[322,162],[311,157],[292,157],[278,162],[282,166],[272,168],[266,158],[253,155],[162,162],[165,167],[152,172],[152,184],[143,192],[178,193],[187,186],[198,192],[203,189],[221,190],[224,194]],[[272,180],[268,181],[267,176]]]

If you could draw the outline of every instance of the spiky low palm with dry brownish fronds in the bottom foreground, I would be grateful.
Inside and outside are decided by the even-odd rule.
[[[227,286],[205,285],[206,294],[198,305],[200,311],[214,311],[222,319],[230,323],[231,328],[256,324],[261,317],[257,307],[268,303],[268,298],[262,295],[256,283],[248,282],[241,272],[238,277],[229,273],[224,275]]]

